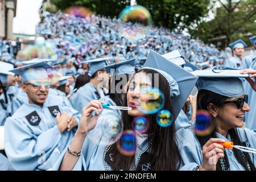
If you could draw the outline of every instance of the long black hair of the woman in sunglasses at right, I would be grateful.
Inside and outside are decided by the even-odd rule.
[[[209,90],[199,90],[198,94],[197,94],[197,110],[208,110],[207,107],[210,103],[212,103],[213,105],[222,108],[224,106],[224,102],[228,99],[229,97],[226,96],[222,96],[220,94],[211,92]],[[228,131],[228,134],[230,135],[231,140],[234,142],[234,145],[239,145],[239,146],[245,146],[245,143],[242,143],[240,140],[240,136],[238,134],[237,128],[234,129],[230,129]],[[197,135],[197,139],[199,140],[201,146],[204,146],[205,143],[207,143],[207,141],[210,138],[216,138],[216,130],[212,131],[212,133],[210,133],[209,135],[206,135],[204,137],[198,136]],[[236,156],[237,161],[242,165],[242,167],[246,170],[253,170],[255,171],[255,166],[253,164],[253,162],[250,159],[250,156],[247,154],[247,152],[241,152],[240,150],[237,150],[236,148],[233,149],[234,151],[234,155]],[[230,167],[229,165],[229,160],[228,157],[226,155],[226,152],[224,151],[225,156],[224,156],[224,163],[226,168],[228,169]],[[221,167],[221,159],[218,160],[217,162],[217,171],[222,171],[224,170]],[[248,167],[249,164],[249,167]]]

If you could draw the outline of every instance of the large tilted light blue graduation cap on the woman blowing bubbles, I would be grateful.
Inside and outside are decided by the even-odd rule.
[[[153,69],[167,79],[170,85],[172,105],[174,106],[172,114],[174,119],[176,119],[195,86],[198,77],[152,50],[150,50],[142,69]]]

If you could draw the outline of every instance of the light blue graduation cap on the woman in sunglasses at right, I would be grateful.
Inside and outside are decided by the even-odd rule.
[[[244,94],[243,83],[240,78],[248,77],[247,74],[240,74],[240,70],[216,70],[195,71],[194,75],[199,76],[196,83],[198,90],[209,90],[226,97],[240,97]]]

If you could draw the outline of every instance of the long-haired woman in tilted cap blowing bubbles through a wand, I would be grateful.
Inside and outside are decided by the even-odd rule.
[[[156,62],[161,61],[161,65]],[[139,90],[143,88],[155,88],[159,81],[159,90],[163,93],[165,102],[162,110],[168,110],[173,115],[174,120],[180,113],[189,93],[191,92],[196,76],[188,73],[183,68],[171,63],[151,51],[150,56],[141,71],[136,73],[131,79],[127,89],[125,106],[131,107],[129,111],[123,111],[123,130],[132,130],[132,122],[135,117],[145,117],[148,121],[148,130],[143,133],[137,133],[135,136],[135,152],[132,155],[123,155],[119,149],[121,137],[117,142],[110,145],[101,145],[92,142],[89,138],[90,133],[97,129],[101,121],[98,119],[99,109],[102,109],[102,101],[91,101],[82,110],[82,118],[79,129],[75,134],[70,146],[69,152],[65,152],[57,161],[53,169],[60,170],[177,170],[180,166],[180,155],[176,142],[175,122],[168,127],[161,127],[156,122],[157,113],[145,114],[140,109],[142,98]],[[157,69],[156,69],[157,68]],[[168,69],[167,69],[168,68]],[[170,73],[170,74],[168,74]],[[173,73],[173,76],[171,76]],[[148,76],[149,74],[152,77]],[[158,79],[155,80],[155,74]],[[185,77],[185,79],[183,77]],[[178,82],[175,80],[179,80]],[[179,88],[187,86],[185,92],[180,92]],[[172,105],[176,107],[172,109]],[[91,118],[93,111],[96,111],[97,117]],[[164,113],[163,117],[168,117]],[[104,118],[104,111],[101,113]],[[100,117],[101,118],[101,117]],[[166,123],[160,123],[167,126]],[[90,131],[90,132],[88,132]],[[125,132],[124,132],[125,133]],[[123,136],[123,135],[122,135]],[[76,155],[80,153],[81,155]],[[71,153],[71,154],[70,154]]]

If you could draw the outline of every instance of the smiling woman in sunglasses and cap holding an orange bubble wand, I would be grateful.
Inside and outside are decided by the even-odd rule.
[[[243,128],[243,119],[250,107],[238,78],[242,75],[224,77],[222,73],[201,73],[197,75],[200,76],[196,85],[199,89],[197,112],[205,110],[207,119],[200,120],[197,115],[195,126],[177,131],[183,161],[180,170],[254,171],[255,154],[236,148],[230,150],[221,144],[232,141],[234,145],[256,148],[256,133]]]

